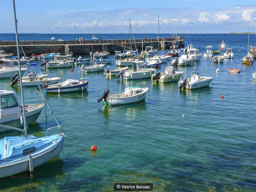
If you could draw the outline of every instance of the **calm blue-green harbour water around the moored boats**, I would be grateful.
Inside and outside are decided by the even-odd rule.
[[[77,36],[68,34],[66,39],[67,34],[48,35],[64,40]],[[135,35],[134,38],[149,36]],[[0,36],[2,40],[14,40],[12,34],[8,38]],[[88,91],[47,94],[67,134],[64,153],[35,168],[33,178],[25,172],[1,179],[0,189],[113,191],[113,183],[153,183],[156,191],[254,191],[256,80],[252,79],[252,73],[256,71],[256,63],[249,66],[241,61],[247,52],[248,36],[189,34],[189,39],[187,34],[182,36],[186,37],[185,46],[192,42],[201,54],[209,44],[217,49],[221,40],[232,48],[234,59],[221,64],[202,57],[193,66],[175,68],[184,71],[185,77],[192,71],[199,71],[201,76],[211,75],[213,84],[209,87],[182,91],[177,82],[121,81],[116,77],[106,78],[103,73],[81,73],[79,66],[73,67],[73,72],[71,68],[45,70],[40,67],[44,60],[36,60],[38,64],[33,66],[36,73],[40,70],[57,73],[62,81],[89,77]],[[115,38],[115,34],[105,34],[104,39]],[[256,45],[255,35],[250,35],[250,45]],[[114,55],[109,59],[114,59]],[[168,65],[171,61],[162,64],[157,72]],[[116,68],[115,60],[108,66]],[[217,68],[220,68],[218,74]],[[241,69],[241,73],[228,73],[228,68]],[[116,92],[143,81],[148,83],[150,93],[143,102],[115,107],[97,103],[107,88]],[[0,80],[0,88],[13,90],[20,98],[20,88],[10,87],[9,83],[9,79]],[[24,87],[24,95],[25,100],[42,98],[36,87]],[[46,112],[47,120],[43,110],[36,123],[29,126],[29,134],[41,137],[47,128],[56,125],[49,110]],[[1,133],[1,138],[14,134],[20,133]],[[90,152],[92,145],[98,147],[96,154]]]

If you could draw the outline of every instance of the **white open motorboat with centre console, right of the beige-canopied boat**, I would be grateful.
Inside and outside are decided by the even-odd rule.
[[[198,72],[193,71],[191,77],[178,81],[178,86],[180,89],[197,89],[208,86],[212,80],[212,76],[200,76]]]

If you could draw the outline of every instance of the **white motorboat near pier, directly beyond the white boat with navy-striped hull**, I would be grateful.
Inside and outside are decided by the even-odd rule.
[[[69,60],[63,59],[61,55],[55,56],[54,61],[45,61],[41,66],[45,68],[68,68],[72,67],[75,58],[69,58]]]

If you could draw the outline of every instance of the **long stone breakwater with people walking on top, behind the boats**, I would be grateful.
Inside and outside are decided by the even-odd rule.
[[[122,46],[123,42],[123,46]],[[125,46],[124,46],[125,42]],[[145,50],[146,46],[153,46],[158,48],[158,41],[156,39],[111,39],[111,40],[84,40],[83,44],[76,41],[20,41],[27,56],[34,54],[44,54],[50,52],[68,53],[73,52],[74,55],[90,54],[90,52],[107,51],[115,53],[115,51],[138,49],[139,51]],[[169,41],[159,41],[160,49],[169,49],[175,45],[178,48],[184,48],[184,41],[175,41],[171,38]],[[17,55],[16,41],[0,41],[0,49],[7,53]]]

